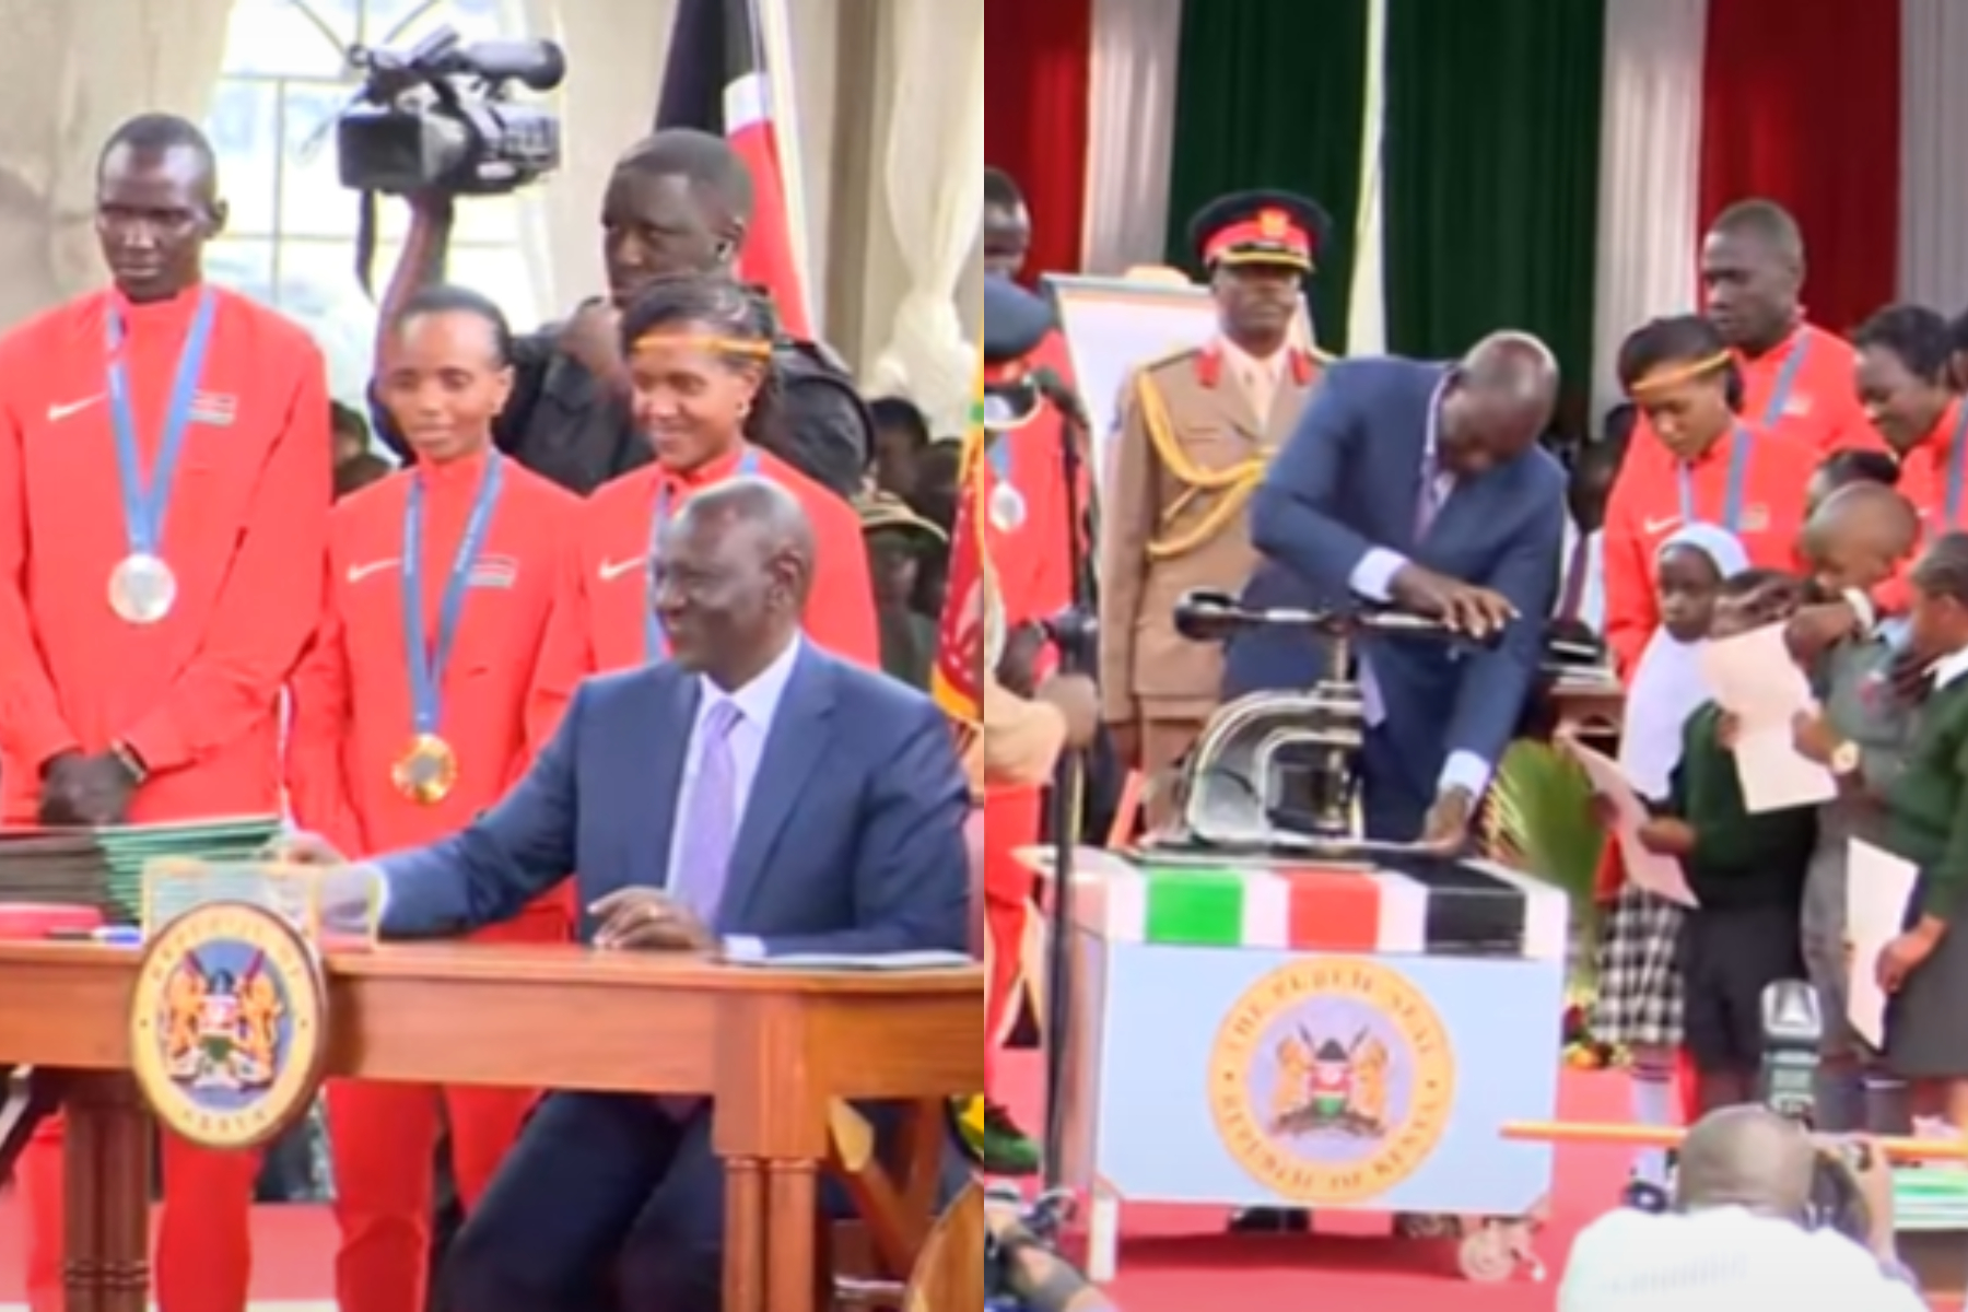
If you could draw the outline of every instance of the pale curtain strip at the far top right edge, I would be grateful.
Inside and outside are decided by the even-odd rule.
[[[1899,0],[1899,295],[1968,309],[1968,4]]]

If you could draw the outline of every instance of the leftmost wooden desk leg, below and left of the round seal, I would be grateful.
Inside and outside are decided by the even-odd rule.
[[[69,1312],[150,1306],[150,1115],[124,1074],[75,1076],[67,1103]]]

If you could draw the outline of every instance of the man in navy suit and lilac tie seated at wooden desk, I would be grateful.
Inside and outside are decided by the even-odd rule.
[[[970,795],[949,722],[801,639],[811,578],[813,529],[781,488],[693,496],[657,547],[671,659],[588,679],[498,806],[382,858],[384,934],[488,924],[579,869],[600,948],[966,950]],[[960,1186],[954,1145],[947,1166]],[[614,1284],[630,1312],[718,1312],[722,1227],[708,1103],[555,1092],[466,1218],[447,1292],[470,1312],[590,1312]]]

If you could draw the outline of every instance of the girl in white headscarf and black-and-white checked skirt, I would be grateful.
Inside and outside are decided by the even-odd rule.
[[[1710,700],[1700,671],[1722,580],[1748,568],[1742,543],[1728,531],[1694,523],[1665,543],[1655,561],[1661,627],[1647,641],[1626,700],[1620,769],[1649,803],[1665,803],[1681,761],[1683,724]],[[1633,1119],[1677,1123],[1675,1052],[1681,1046],[1681,907],[1631,883],[1620,885],[1606,913],[1598,952],[1598,999],[1592,1033],[1624,1046]],[[1667,1186],[1667,1155],[1649,1149],[1633,1163],[1635,1184]]]

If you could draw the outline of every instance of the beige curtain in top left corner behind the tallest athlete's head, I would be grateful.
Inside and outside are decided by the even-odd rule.
[[[232,0],[0,0],[0,325],[102,281],[94,169],[132,114],[203,120]]]

